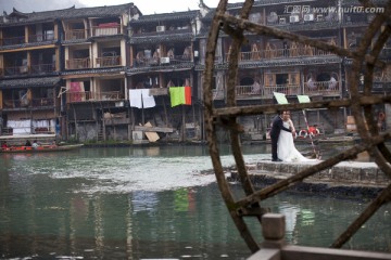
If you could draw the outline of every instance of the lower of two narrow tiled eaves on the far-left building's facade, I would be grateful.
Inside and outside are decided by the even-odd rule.
[[[59,77],[0,80],[0,89],[54,87],[60,80]]]

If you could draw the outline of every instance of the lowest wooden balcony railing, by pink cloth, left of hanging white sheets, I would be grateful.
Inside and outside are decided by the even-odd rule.
[[[66,99],[68,103],[74,102],[86,102],[86,101],[116,101],[123,100],[124,94],[119,91],[105,91],[100,93],[93,93],[90,91],[81,91],[81,92],[67,92]]]

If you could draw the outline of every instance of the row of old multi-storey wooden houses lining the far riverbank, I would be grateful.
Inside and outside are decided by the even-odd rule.
[[[381,1],[376,1],[381,6]],[[250,21],[354,49],[374,17],[354,12],[355,0],[258,0]],[[204,140],[202,82],[214,9],[143,15],[133,3],[70,8],[0,17],[1,134],[55,132],[64,140]],[[228,6],[237,15],[241,3]],[[381,12],[381,10],[377,10]],[[220,35],[214,69],[214,102],[225,103],[230,38]],[[391,88],[391,42],[381,52],[374,91]],[[239,105],[349,96],[351,60],[310,46],[247,35],[241,47]],[[363,76],[364,77],[364,76]],[[364,82],[364,78],[363,78]],[[379,113],[391,115],[388,106]],[[325,133],[344,129],[349,110],[307,112]],[[243,138],[265,135],[270,116],[241,119]],[[386,117],[386,119],[388,119]],[[301,113],[293,120],[304,126]],[[391,118],[387,120],[391,121]],[[147,125],[147,126],[146,126]],[[152,126],[151,128],[147,128]]]

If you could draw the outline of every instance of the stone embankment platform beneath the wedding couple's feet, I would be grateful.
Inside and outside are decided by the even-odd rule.
[[[305,162],[263,160],[247,167],[252,183],[255,186],[266,186],[318,162],[316,160]],[[238,181],[238,172],[231,170],[229,179]],[[390,181],[375,162],[341,161],[297,183],[290,187],[290,191],[343,197],[374,197]]]

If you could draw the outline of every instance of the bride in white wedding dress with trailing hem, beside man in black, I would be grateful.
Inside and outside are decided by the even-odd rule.
[[[283,127],[290,128],[290,122],[283,121]],[[293,135],[291,132],[281,130],[280,135],[278,136],[277,143],[277,156],[282,161],[311,161],[304,157],[294,146]]]

